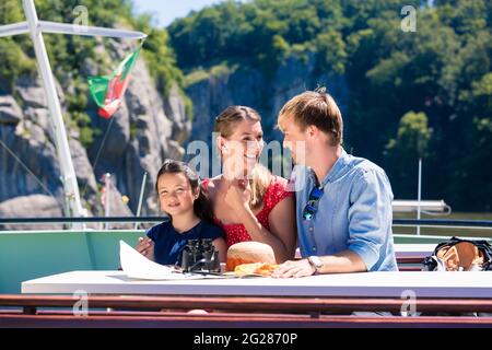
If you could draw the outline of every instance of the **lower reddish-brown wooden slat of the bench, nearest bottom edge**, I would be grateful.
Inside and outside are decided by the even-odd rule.
[[[74,317],[63,314],[23,315],[0,313],[0,327],[43,327],[43,328],[327,328],[327,327],[492,327],[492,317],[367,317],[321,315],[313,318],[306,315],[262,315],[262,314],[208,314],[190,315],[173,313],[167,315],[128,315],[128,314],[91,314]]]

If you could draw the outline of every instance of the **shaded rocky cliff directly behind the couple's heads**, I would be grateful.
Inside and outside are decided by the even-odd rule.
[[[349,92],[344,78],[318,73],[315,55],[307,56],[307,59],[291,57],[274,72],[248,66],[211,69],[186,89],[194,103],[188,141],[211,142],[214,118],[229,105],[246,105],[257,109],[262,118],[265,140],[280,141],[282,136],[274,127],[283,104],[294,95],[319,85],[327,86],[341,109],[345,109]]]

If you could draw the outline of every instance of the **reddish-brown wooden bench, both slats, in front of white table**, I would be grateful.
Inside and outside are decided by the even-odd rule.
[[[455,316],[414,317],[350,315],[399,315],[407,300],[387,298],[90,295],[86,316],[72,313],[75,302],[71,295],[0,295],[0,327],[492,327],[492,317],[459,316],[492,313],[491,299],[418,299],[419,313]]]

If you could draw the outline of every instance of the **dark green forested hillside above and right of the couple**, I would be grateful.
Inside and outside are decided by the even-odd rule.
[[[385,167],[396,197],[415,196],[417,162],[425,156],[424,196],[457,210],[492,210],[492,2],[430,3],[226,1],[168,31],[188,83],[221,62],[273,77],[289,57],[307,63],[315,56],[317,77],[306,81],[328,77],[329,86],[343,74],[347,144]],[[401,30],[403,4],[417,9],[417,32]],[[483,191],[470,194],[473,186]]]

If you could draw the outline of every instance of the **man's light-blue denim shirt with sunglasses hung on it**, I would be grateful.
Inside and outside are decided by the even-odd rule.
[[[379,166],[342,150],[320,183],[324,195],[312,220],[304,220],[303,211],[316,186],[314,172],[297,165],[292,175],[303,257],[349,249],[362,258],[367,271],[398,270],[391,233],[393,191]]]

